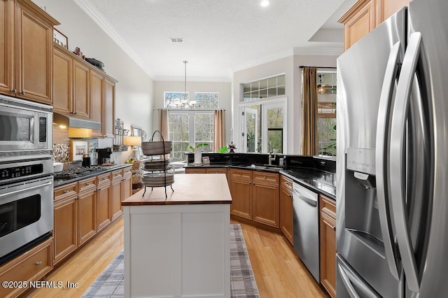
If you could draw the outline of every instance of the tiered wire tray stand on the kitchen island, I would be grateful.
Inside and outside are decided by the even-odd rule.
[[[154,135],[157,132],[160,134],[162,141],[153,141]],[[143,171],[141,183],[145,187],[143,195],[146,193],[146,187],[151,187],[151,190],[153,190],[153,187],[165,187],[166,199],[168,197],[168,185],[174,192],[172,187],[172,184],[174,183],[174,169],[173,166],[169,164],[169,158],[166,158],[166,155],[172,152],[172,142],[165,141],[162,133],[156,130],[153,133],[151,141],[141,143],[141,150],[143,150],[143,154],[148,157],[141,162],[141,170]],[[172,170],[172,173],[170,170]]]

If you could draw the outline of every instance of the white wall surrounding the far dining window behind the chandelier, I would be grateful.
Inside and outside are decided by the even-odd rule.
[[[158,129],[158,108],[163,108],[163,92],[183,92],[183,81],[154,81],[154,108],[153,108],[153,127]],[[230,128],[232,127],[232,84],[213,83],[213,82],[188,82],[186,91],[190,93],[190,99],[194,92],[218,92],[219,108],[225,110],[225,143],[230,143]]]

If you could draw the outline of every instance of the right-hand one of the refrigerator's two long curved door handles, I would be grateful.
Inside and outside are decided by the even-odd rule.
[[[391,195],[398,248],[400,249],[400,257],[403,270],[405,271],[407,286],[412,292],[419,292],[420,281],[409,229],[407,228],[405,179],[403,178],[405,166],[403,164],[403,156],[405,154],[404,144],[407,111],[409,111],[412,82],[414,80],[420,49],[421,33],[415,32],[410,34],[393,106],[390,148],[391,167],[389,174],[391,185],[395,185],[395,187],[391,187]]]

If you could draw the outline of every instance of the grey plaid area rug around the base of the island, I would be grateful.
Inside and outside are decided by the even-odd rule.
[[[124,297],[124,259],[122,250],[83,297]],[[235,298],[260,297],[240,225],[230,225],[230,294]]]

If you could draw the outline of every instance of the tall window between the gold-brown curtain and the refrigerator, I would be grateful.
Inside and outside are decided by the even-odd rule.
[[[317,73],[318,154],[336,156],[336,90],[335,72]]]

